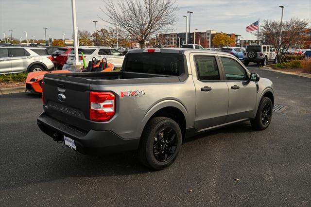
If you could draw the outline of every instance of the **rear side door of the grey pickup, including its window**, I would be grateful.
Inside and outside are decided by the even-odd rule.
[[[217,55],[190,53],[190,60],[196,93],[194,127],[204,130],[225,123],[229,92]]]

